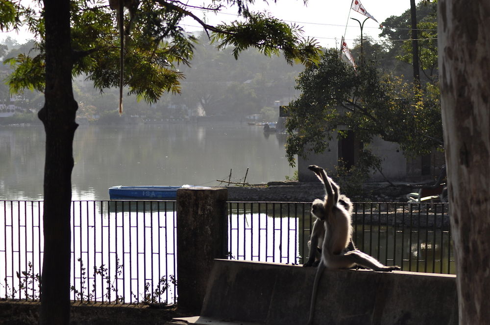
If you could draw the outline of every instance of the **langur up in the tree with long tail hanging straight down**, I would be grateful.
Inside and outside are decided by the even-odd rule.
[[[116,10],[118,19],[119,38],[121,43],[121,52],[119,57],[119,115],[123,114],[123,84],[124,84],[124,37],[129,35],[131,24],[133,23],[136,9],[140,4],[139,0],[109,0],[109,7]],[[124,32],[124,8],[129,10],[129,22]],[[125,34],[125,35],[124,35]]]

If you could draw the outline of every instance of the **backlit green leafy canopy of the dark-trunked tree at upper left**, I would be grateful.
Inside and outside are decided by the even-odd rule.
[[[315,40],[301,36],[297,25],[287,24],[267,13],[252,12],[254,0],[219,0],[198,7],[210,12],[224,5],[235,6],[241,22],[209,25],[193,14],[196,7],[178,0],[142,0],[134,16],[131,32],[125,38],[124,84],[129,94],[148,103],[164,92],[179,93],[184,77],[179,65],[189,65],[196,37],[181,26],[186,17],[200,24],[217,46],[232,47],[233,55],[248,47],[257,47],[266,55],[283,53],[289,63],[315,63],[319,47]],[[71,36],[73,76],[86,74],[95,87],[103,91],[119,85],[119,34],[115,11],[107,1],[73,0],[71,3]],[[39,53],[19,54],[8,59],[15,71],[9,76],[11,91],[44,89],[44,21],[43,9],[29,8],[20,2],[0,0],[0,29],[19,28],[25,23],[34,32]],[[128,13],[126,12],[126,15]],[[129,17],[125,18],[125,22]],[[126,26],[127,27],[127,26]]]

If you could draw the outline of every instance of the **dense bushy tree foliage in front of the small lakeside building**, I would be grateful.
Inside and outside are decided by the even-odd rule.
[[[357,70],[327,50],[318,66],[306,68],[297,80],[300,97],[288,107],[286,152],[306,158],[327,149],[328,141],[352,130],[364,145],[357,167],[379,168],[368,144],[375,136],[396,142],[407,155],[430,152],[442,145],[441,111],[433,86],[418,89],[383,75],[374,64]]]

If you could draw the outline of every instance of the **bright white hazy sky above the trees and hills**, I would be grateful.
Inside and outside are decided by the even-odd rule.
[[[23,0],[23,2],[30,0]],[[379,23],[382,23],[390,16],[399,16],[404,11],[410,8],[410,0],[359,0],[364,8],[371,14]],[[188,0],[184,1],[191,5],[202,5],[203,0]],[[205,0],[205,3],[210,1]],[[345,33],[347,45],[352,47],[353,39],[359,38],[360,28],[359,23],[349,19],[356,18],[361,22],[366,16],[361,15],[353,10],[350,10],[351,0],[309,0],[308,5],[304,6],[303,0],[269,0],[269,6],[260,0],[256,0],[257,10],[270,11],[276,18],[286,22],[295,22],[303,26],[304,35],[316,38],[321,46],[337,47],[341,37]],[[203,11],[194,10],[196,16],[203,18],[210,24],[217,24],[223,21],[232,21],[237,19],[236,9],[226,9],[222,13],[204,13]],[[350,16],[349,16],[350,14]],[[184,22],[185,28],[189,31],[199,30],[198,24],[192,20]],[[346,28],[347,24],[347,28]],[[371,36],[374,40],[378,40],[378,34],[381,32],[379,24],[368,19],[364,24],[364,35]],[[3,40],[7,35],[17,39],[19,43],[30,38],[26,32],[16,34],[14,32],[0,32],[0,40]]]

